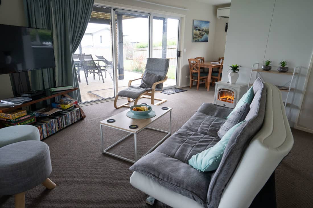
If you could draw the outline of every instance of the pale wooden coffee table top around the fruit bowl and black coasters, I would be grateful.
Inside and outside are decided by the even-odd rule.
[[[113,127],[116,129],[120,129],[123,131],[128,131],[131,133],[137,133],[139,131],[141,131],[143,128],[146,128],[146,126],[148,126],[149,124],[151,124],[153,121],[156,121],[158,118],[162,117],[164,114],[166,114],[167,112],[171,111],[172,108],[168,108],[167,110],[162,110],[161,108],[164,106],[156,106],[156,105],[150,105],[149,106],[152,107],[152,111],[156,112],[156,116],[152,117],[152,118],[146,118],[146,119],[135,119],[135,118],[130,118],[128,116],[126,116],[126,113],[128,111],[130,111],[130,109],[128,108],[127,110],[120,112],[114,116],[111,116],[110,118],[106,118],[103,121],[100,121],[100,124],[104,125],[104,126],[109,126],[109,127]],[[108,123],[107,120],[109,119],[115,119],[114,123]],[[131,125],[137,125],[138,128],[136,129],[130,129],[129,126]]]

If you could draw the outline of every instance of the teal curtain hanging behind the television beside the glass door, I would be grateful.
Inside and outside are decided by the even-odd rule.
[[[94,0],[24,0],[29,26],[51,29],[54,38],[56,66],[54,71],[51,70],[53,76],[47,69],[49,73],[44,73],[44,78],[41,78],[44,83],[34,79],[37,82],[34,86],[45,87],[54,79],[55,86],[79,87],[72,54],[84,36],[93,4]],[[33,77],[38,78],[38,75],[34,74]],[[81,101],[79,91],[74,91],[71,96]]]

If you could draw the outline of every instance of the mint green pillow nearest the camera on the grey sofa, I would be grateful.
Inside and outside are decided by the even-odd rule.
[[[218,141],[218,143],[216,143],[213,147],[193,155],[188,161],[189,165],[191,165],[196,170],[203,172],[216,170],[222,160],[226,145],[230,137],[233,135],[233,132],[236,130],[236,128],[243,122],[245,121],[241,121],[229,129],[222,137],[222,139]]]

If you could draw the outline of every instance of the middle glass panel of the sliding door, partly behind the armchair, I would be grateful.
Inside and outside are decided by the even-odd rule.
[[[118,90],[141,77],[149,57],[149,14],[114,11],[116,22],[116,70]],[[140,80],[131,83],[139,85]]]

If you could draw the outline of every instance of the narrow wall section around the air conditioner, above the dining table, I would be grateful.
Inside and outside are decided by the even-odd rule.
[[[230,4],[223,4],[216,8],[230,7]],[[216,16],[215,11],[215,16]],[[225,25],[229,18],[218,19],[216,17],[215,35],[214,35],[214,47],[213,47],[213,60],[218,60],[218,57],[224,57],[225,46],[226,46],[226,35]]]

